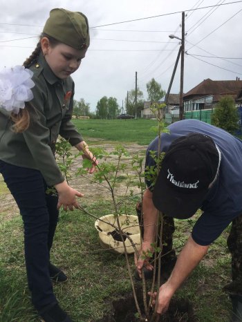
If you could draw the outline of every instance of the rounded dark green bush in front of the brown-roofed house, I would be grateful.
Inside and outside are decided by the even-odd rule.
[[[239,127],[239,113],[231,96],[222,97],[212,113],[212,124],[234,133]]]

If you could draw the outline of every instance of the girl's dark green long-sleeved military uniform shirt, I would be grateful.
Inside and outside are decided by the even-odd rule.
[[[30,70],[35,82],[30,126],[24,133],[13,132],[9,113],[0,108],[0,159],[19,167],[38,169],[48,186],[53,186],[64,181],[53,154],[58,135],[71,145],[83,141],[71,122],[74,82],[71,77],[57,78],[43,55],[39,55],[38,63]]]

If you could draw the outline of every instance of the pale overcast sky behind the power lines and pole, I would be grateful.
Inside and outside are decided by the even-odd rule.
[[[75,99],[84,98],[91,111],[104,95],[122,106],[135,88],[136,71],[145,100],[152,77],[167,91],[180,46],[169,35],[181,37],[182,11],[184,92],[207,78],[242,79],[242,1],[233,0],[1,0],[0,68],[23,64],[53,8],[81,11],[89,19],[91,46],[73,79]],[[171,93],[179,89],[180,64]]]

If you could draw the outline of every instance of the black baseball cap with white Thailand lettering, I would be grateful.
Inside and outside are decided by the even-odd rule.
[[[212,138],[190,133],[169,146],[153,189],[153,204],[178,219],[192,217],[202,206],[218,173],[220,152]]]

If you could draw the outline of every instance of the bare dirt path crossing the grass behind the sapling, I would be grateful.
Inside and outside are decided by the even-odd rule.
[[[91,141],[91,140],[90,140]],[[107,152],[113,151],[114,144],[103,142],[102,140],[92,140],[93,144],[91,146],[102,146]],[[95,142],[97,142],[95,144]],[[138,144],[126,144],[125,148],[129,151],[130,156],[125,158],[125,162],[130,164],[132,155],[136,153],[145,153],[147,146],[140,146]],[[73,148],[73,153],[76,153],[76,149]],[[110,159],[109,159],[110,160]],[[100,160],[100,162],[103,162]],[[80,167],[82,164],[82,157],[78,157],[75,159],[75,163],[73,164],[73,171]],[[92,178],[92,175],[87,174],[87,178]],[[95,199],[107,198],[107,191],[104,187],[101,187],[97,184],[91,184],[89,180],[82,177],[75,177],[70,180],[69,184],[71,187],[79,190],[80,192],[84,193],[84,201],[86,203],[92,202]],[[119,186],[119,193],[125,191],[127,187],[125,185]],[[16,205],[14,198],[12,197],[8,187],[6,187],[5,182],[3,181],[3,177],[0,174],[0,218],[1,220],[10,220],[13,216],[19,216],[19,209]]]

